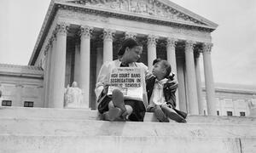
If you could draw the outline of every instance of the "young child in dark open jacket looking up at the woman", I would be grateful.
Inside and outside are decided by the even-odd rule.
[[[173,81],[171,65],[163,59],[154,59],[152,77],[146,79],[148,94],[148,112],[154,115],[160,122],[169,122],[168,118],[176,122],[186,122],[187,114],[178,111],[176,107],[177,82]]]

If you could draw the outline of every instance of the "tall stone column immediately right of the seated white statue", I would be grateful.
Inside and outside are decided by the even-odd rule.
[[[83,94],[83,107],[89,108],[90,102],[90,34],[92,28],[81,26],[80,77],[79,86]]]

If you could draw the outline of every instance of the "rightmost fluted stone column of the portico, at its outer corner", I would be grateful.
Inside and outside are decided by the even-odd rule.
[[[214,82],[212,76],[212,59],[211,59],[212,43],[203,44],[203,60],[207,94],[207,111],[208,115],[216,116],[217,109],[215,103]]]

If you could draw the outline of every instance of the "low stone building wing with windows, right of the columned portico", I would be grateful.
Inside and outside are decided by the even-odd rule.
[[[204,114],[207,115],[205,88],[203,90]],[[215,83],[218,116],[250,116],[256,105],[256,87],[227,83]]]

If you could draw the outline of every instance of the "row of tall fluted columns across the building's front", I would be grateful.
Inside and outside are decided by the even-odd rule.
[[[66,46],[67,46],[67,29],[68,25],[65,23],[59,24],[56,28],[55,37],[51,40],[51,53],[49,53],[50,65],[48,82],[46,83],[46,96],[49,101],[49,107],[63,108],[64,101],[64,83],[65,83],[65,66],[66,66]],[[80,58],[79,58],[79,84],[83,92],[84,105],[89,107],[90,100],[90,37],[92,27],[80,27]],[[113,30],[104,29],[103,31],[103,62],[113,60]],[[134,37],[134,34],[126,33],[125,37]],[[148,36],[148,68],[152,70],[153,60],[156,59],[156,40],[158,37]],[[175,44],[177,39],[167,38],[167,60],[172,65],[172,72],[177,74]],[[212,78],[212,63],[211,63],[211,46],[212,44],[203,44],[203,59],[204,70],[206,77],[207,89],[207,110],[209,115],[216,115],[216,104],[214,95],[214,84]],[[202,100],[201,100],[201,77],[200,65],[198,58],[194,58],[195,42],[187,41],[185,43],[185,66],[187,79],[189,113],[192,115],[202,114]],[[77,49],[76,49],[77,50]],[[194,60],[195,59],[195,60]],[[49,63],[48,62],[48,63]],[[178,74],[179,76],[180,74]],[[180,87],[183,88],[183,87]],[[49,91],[49,92],[48,92]],[[179,90],[181,91],[181,90]],[[183,90],[184,91],[184,90]],[[177,107],[183,107],[186,104],[184,99],[178,100],[177,92]],[[180,103],[179,103],[179,102]]]

